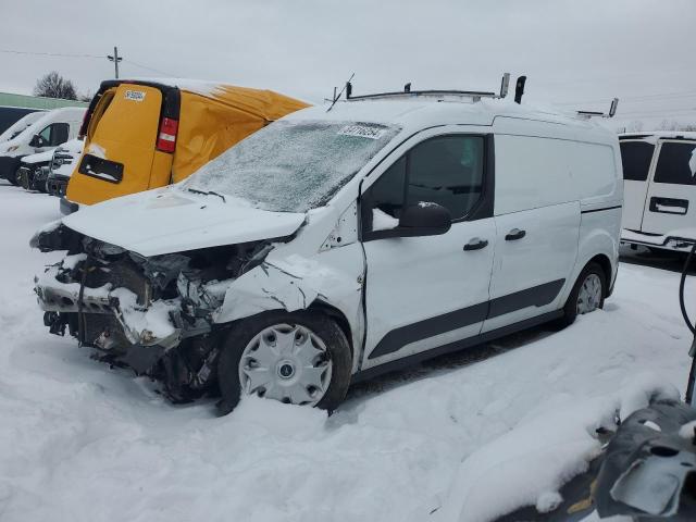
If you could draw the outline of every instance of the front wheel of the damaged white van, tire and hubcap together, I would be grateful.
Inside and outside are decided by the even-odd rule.
[[[229,413],[243,394],[333,410],[346,396],[350,371],[350,345],[334,320],[265,312],[236,324],[222,347],[220,413]]]

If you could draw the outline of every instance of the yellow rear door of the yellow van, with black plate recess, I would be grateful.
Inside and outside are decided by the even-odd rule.
[[[161,108],[156,87],[121,84],[115,89],[96,126],[90,124],[75,173],[79,181],[69,185],[74,200],[91,204],[149,188]]]

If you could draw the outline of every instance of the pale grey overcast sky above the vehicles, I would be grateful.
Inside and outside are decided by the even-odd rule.
[[[618,123],[696,123],[696,0],[0,0],[0,50],[105,57],[121,76],[271,88],[320,102],[355,92],[497,90],[526,74],[526,100],[606,110]],[[144,65],[148,69],[142,69]],[[0,52],[0,90],[30,94],[55,70],[80,92],[105,58]],[[156,71],[153,71],[156,70]]]

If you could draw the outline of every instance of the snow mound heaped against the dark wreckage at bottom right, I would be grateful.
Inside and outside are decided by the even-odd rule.
[[[560,487],[599,456],[597,430],[616,431],[617,414],[623,421],[651,399],[679,399],[676,388],[650,374],[624,382],[620,389],[614,397],[581,402],[575,397],[561,398],[469,456],[442,520],[486,522],[534,505],[540,512],[552,510],[562,501]]]

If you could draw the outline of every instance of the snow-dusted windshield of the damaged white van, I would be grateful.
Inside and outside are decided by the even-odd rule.
[[[183,188],[307,212],[325,204],[398,132],[375,123],[276,122],[203,165]]]

